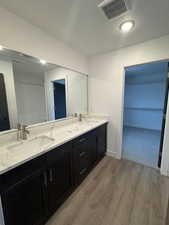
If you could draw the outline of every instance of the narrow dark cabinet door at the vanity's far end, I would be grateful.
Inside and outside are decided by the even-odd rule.
[[[97,129],[97,154],[98,159],[101,159],[107,148],[107,125],[103,125]]]

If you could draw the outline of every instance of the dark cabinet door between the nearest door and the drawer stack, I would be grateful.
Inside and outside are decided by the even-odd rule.
[[[71,190],[71,149],[70,144],[65,144],[48,154],[49,214],[56,211]]]

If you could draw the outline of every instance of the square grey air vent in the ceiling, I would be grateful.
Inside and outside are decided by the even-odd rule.
[[[98,5],[110,20],[129,10],[128,0],[104,0]]]

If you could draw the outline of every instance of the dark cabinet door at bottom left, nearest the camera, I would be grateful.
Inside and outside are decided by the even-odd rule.
[[[33,175],[2,193],[5,225],[40,225],[45,216],[42,174]]]

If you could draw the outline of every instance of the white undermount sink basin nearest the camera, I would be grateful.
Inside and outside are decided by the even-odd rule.
[[[32,152],[42,150],[43,147],[52,144],[53,141],[53,138],[43,135],[10,145],[8,146],[8,152],[12,156],[18,156],[26,153],[31,154]]]

